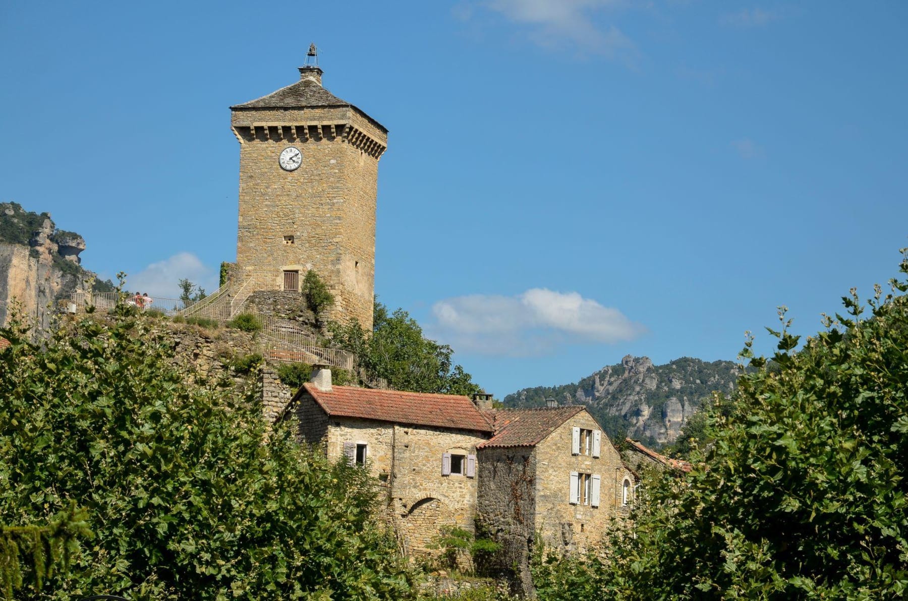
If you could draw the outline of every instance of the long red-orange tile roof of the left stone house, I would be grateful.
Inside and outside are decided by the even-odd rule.
[[[302,386],[293,400],[299,399],[305,390],[330,416],[492,432],[489,421],[479,413],[473,401],[459,395],[352,386],[333,386],[331,392],[325,392],[311,383]]]

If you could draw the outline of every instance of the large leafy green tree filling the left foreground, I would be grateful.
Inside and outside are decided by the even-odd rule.
[[[143,316],[37,345],[0,330],[0,522],[71,503],[94,542],[29,599],[408,598],[377,483],[301,447],[226,377],[174,367]]]

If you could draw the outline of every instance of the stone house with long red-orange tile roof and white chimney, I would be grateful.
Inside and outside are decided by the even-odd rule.
[[[428,550],[440,527],[470,532],[477,514],[477,445],[493,434],[463,396],[331,386],[321,369],[282,413],[299,419],[300,438],[328,458],[346,456],[386,487],[401,547]]]

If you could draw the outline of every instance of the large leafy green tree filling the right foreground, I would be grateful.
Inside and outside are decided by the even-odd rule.
[[[905,251],[903,251],[904,254]],[[908,255],[901,264],[908,273]],[[891,599],[908,586],[908,283],[801,342],[782,327],[706,420],[687,478],[650,488],[597,596]]]

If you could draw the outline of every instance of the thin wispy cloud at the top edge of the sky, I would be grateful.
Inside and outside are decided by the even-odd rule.
[[[531,28],[530,39],[545,47],[573,43],[584,52],[605,54],[633,64],[634,43],[614,25],[597,26],[594,15],[620,0],[485,0],[481,6],[509,21]],[[474,14],[460,5],[456,15],[466,20]]]

